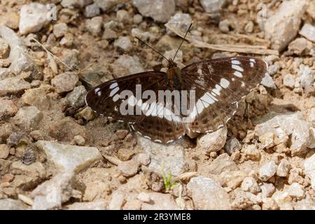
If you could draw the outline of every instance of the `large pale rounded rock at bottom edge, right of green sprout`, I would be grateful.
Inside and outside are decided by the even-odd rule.
[[[187,185],[196,209],[230,209],[230,197],[225,190],[212,179],[197,176]]]

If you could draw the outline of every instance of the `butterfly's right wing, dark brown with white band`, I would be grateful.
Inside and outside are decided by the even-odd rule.
[[[253,57],[224,57],[190,64],[181,76],[195,90],[187,133],[214,132],[237,110],[238,101],[261,82],[267,64]]]

